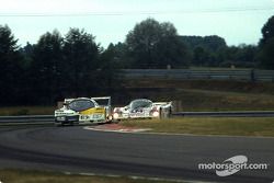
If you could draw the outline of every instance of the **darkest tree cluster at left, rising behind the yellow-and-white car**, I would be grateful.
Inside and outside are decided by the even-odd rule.
[[[106,50],[84,30],[45,33],[37,44],[19,47],[0,26],[0,104],[53,104],[64,98],[109,93],[116,88]],[[102,93],[102,94],[104,94]]]

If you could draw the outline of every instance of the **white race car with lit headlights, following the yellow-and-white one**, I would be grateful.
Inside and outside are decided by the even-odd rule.
[[[171,102],[151,102],[147,99],[137,99],[124,107],[113,110],[113,119],[125,118],[162,118],[172,113]]]

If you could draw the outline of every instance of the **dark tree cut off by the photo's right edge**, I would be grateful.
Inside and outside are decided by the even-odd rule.
[[[265,69],[274,69],[274,15],[262,27],[262,39],[258,59]]]

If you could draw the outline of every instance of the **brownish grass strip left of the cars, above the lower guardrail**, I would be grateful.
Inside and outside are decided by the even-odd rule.
[[[0,116],[54,114],[54,106],[7,106],[0,107]]]

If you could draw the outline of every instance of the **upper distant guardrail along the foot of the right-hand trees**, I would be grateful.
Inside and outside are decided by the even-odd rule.
[[[274,70],[254,69],[124,69],[123,75],[128,79],[214,79],[214,80],[246,80],[274,82]]]

